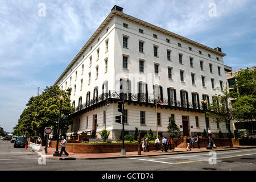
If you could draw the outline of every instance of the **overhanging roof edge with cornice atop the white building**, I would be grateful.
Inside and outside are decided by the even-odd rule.
[[[153,24],[144,22],[143,20],[140,20],[138,18],[134,18],[133,16],[127,15],[127,14],[123,13],[122,10],[123,10],[122,7],[119,7],[119,6],[116,6],[116,5],[112,8],[112,11],[106,17],[104,22],[101,23],[100,27],[97,28],[96,32],[94,32],[94,34],[90,37],[88,42],[85,43],[85,45],[82,47],[82,49],[79,51],[79,53],[77,53],[75,58],[71,61],[71,63],[69,63],[68,67],[60,75],[60,77],[57,78],[54,85],[56,85],[57,82],[59,82],[61,80],[61,78],[65,75],[65,73],[67,73],[68,70],[76,63],[77,59],[79,59],[79,57],[82,55],[82,53],[84,53],[85,49],[88,48],[90,46],[90,44],[92,44],[92,42],[97,38],[97,36],[106,27],[106,25],[114,18],[114,16],[118,16],[119,18],[127,19],[127,20],[129,20],[130,22],[133,22],[133,23],[138,23],[140,26],[144,26],[144,27],[147,27],[147,28],[151,28],[152,30],[159,31],[162,34],[166,34],[166,35],[171,36],[173,38],[179,39],[182,42],[190,43],[194,46],[200,47],[200,48],[205,49],[209,52],[216,53],[217,55],[220,55],[222,57],[226,56],[225,53],[221,52],[221,48],[219,48],[219,47],[216,47],[216,48],[213,49],[213,48],[204,46],[203,44],[197,43],[193,40],[190,40],[188,38],[184,38],[183,36],[177,35],[174,32],[165,30],[165,29],[160,28],[158,26],[154,26]]]

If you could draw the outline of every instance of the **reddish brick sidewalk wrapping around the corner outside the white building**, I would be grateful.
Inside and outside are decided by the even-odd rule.
[[[47,159],[114,159],[114,158],[131,158],[138,156],[155,156],[155,155],[174,155],[174,154],[185,154],[185,153],[196,153],[196,152],[205,152],[205,151],[224,151],[224,150],[237,150],[242,148],[256,148],[255,146],[234,146],[234,148],[229,147],[217,147],[212,150],[207,150],[204,148],[191,148],[191,151],[187,151],[186,148],[175,148],[174,152],[168,150],[168,152],[155,151],[152,150],[150,152],[141,152],[141,155],[138,155],[138,152],[126,152],[125,156],[121,155],[121,152],[115,153],[101,153],[101,154],[74,154],[72,152],[68,152],[69,156],[53,156],[56,148],[48,148],[47,155],[44,152],[44,146],[42,147],[43,151],[34,152],[34,154],[38,156],[44,156]],[[30,150],[30,149],[29,149]],[[31,150],[30,150],[31,151]],[[59,150],[60,151],[60,150]],[[31,151],[32,152],[32,151]]]

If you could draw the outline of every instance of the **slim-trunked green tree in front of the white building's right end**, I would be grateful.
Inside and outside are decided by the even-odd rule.
[[[208,106],[207,114],[212,117],[213,122],[225,122],[228,128],[229,135],[229,145],[233,148],[232,143],[232,132],[230,130],[230,125],[234,120],[234,110],[230,106],[230,94],[226,89],[222,90],[223,94],[216,94],[212,104]]]

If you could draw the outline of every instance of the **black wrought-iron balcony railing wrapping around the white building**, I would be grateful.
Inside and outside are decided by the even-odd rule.
[[[155,104],[155,98],[152,96],[148,96],[146,93],[120,93],[117,91],[111,91],[109,90],[108,93],[102,93],[99,96],[93,98],[92,100],[85,102],[84,104],[81,104],[80,106],[75,107],[75,113],[77,111],[80,111],[82,109],[85,109],[87,107],[93,106],[99,102],[105,101],[106,99],[116,99],[121,100],[122,96],[124,97],[125,101],[133,101],[138,102],[139,104]],[[162,100],[163,105],[162,106],[171,106],[171,107],[179,107],[181,109],[199,109],[203,110],[202,105],[198,105],[198,103],[192,103],[192,102],[184,102],[181,103],[181,101],[177,101],[174,98],[166,99],[163,98]],[[161,106],[158,102],[158,106]]]

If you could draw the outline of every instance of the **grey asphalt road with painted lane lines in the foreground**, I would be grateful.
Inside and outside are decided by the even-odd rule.
[[[256,148],[216,152],[216,164],[209,164],[209,152],[136,158],[94,160],[43,160],[24,148],[14,148],[10,141],[0,141],[0,170],[154,170],[154,171],[255,171]],[[212,162],[214,160],[211,160]]]

